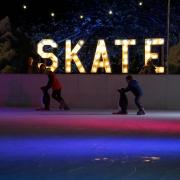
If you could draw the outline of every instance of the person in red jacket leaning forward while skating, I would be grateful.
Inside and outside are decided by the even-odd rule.
[[[52,97],[60,103],[59,108],[69,110],[68,105],[65,103],[64,99],[61,96],[62,84],[60,83],[54,72],[48,72],[48,83],[43,88],[46,90],[52,88]]]

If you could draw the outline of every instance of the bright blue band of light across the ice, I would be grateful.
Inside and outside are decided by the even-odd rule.
[[[128,155],[180,156],[180,139],[121,137],[0,138],[0,160],[49,157],[96,157]]]

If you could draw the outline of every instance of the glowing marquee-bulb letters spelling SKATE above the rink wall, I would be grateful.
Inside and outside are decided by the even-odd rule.
[[[159,54],[151,52],[152,46],[162,46],[164,45],[163,38],[152,38],[152,39],[145,39],[145,59],[144,64],[146,65],[148,60],[151,59],[158,59]],[[84,40],[79,40],[78,43],[72,47],[71,40],[66,40],[65,42],[65,73],[72,73],[71,66],[72,62],[76,65],[79,73],[86,73],[86,69],[84,68],[81,60],[78,57],[78,52],[83,48],[85,44]],[[129,72],[129,48],[131,46],[136,45],[136,39],[116,39],[114,41],[116,46],[122,46],[122,73]],[[44,50],[45,46],[50,46],[52,48],[58,48],[58,44],[52,39],[43,39],[37,45],[37,53],[45,59],[51,60],[51,65],[47,66],[51,71],[56,71],[59,67],[58,65],[58,58],[52,52],[46,52]],[[92,68],[91,73],[97,73],[98,69],[104,69],[105,73],[112,73],[111,69],[111,62],[108,56],[106,42],[104,39],[100,39],[97,42],[96,52],[94,55],[94,59],[92,60]],[[40,64],[39,64],[40,65]],[[164,73],[165,67],[160,66],[156,67],[156,73]]]

